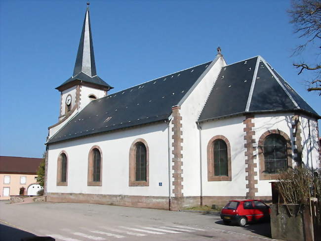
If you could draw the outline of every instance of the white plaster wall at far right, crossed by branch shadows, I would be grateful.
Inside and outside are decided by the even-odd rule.
[[[302,161],[308,168],[320,168],[317,131],[318,122],[307,116],[300,116],[302,138]],[[310,127],[309,127],[310,126]]]

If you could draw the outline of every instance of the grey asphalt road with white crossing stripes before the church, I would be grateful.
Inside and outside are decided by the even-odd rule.
[[[264,241],[269,223],[226,226],[220,217],[85,203],[0,202],[0,240],[50,236],[56,241]]]

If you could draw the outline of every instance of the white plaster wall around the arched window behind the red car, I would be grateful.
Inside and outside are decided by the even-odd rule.
[[[245,196],[244,116],[201,123],[201,161],[203,196]],[[231,145],[232,181],[207,181],[207,144],[216,135],[225,136]]]

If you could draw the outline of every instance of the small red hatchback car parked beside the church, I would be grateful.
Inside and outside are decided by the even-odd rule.
[[[241,227],[248,222],[269,220],[270,207],[261,200],[231,200],[221,210],[221,219],[224,224],[237,222]]]

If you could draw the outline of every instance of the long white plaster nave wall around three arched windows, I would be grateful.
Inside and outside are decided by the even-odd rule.
[[[49,145],[48,193],[93,193],[168,196],[167,124],[159,123],[94,135]],[[149,187],[129,187],[129,148],[137,138],[149,146]],[[102,149],[102,186],[87,186],[88,153],[93,145]],[[56,186],[57,158],[68,154],[68,186]],[[159,186],[159,183],[162,186]]]

